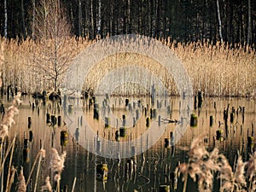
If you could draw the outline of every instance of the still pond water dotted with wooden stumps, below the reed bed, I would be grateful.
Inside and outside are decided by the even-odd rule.
[[[96,98],[99,119],[95,116],[94,107],[90,106],[89,100],[67,98],[68,104],[65,108],[56,103],[43,103],[39,100],[38,105],[32,108],[33,103],[36,102],[32,97],[22,96],[21,99],[23,102],[19,106],[20,113],[15,116],[15,125],[10,129],[9,142],[16,134],[13,161],[18,169],[23,166],[26,178],[31,172],[40,148],[43,146],[46,150],[46,157],[40,165],[37,191],[40,191],[40,186],[44,185],[47,176],[50,177],[53,188],[56,187],[54,173],[49,169],[51,148],[56,148],[60,154],[64,150],[67,151],[65,167],[61,172],[63,191],[64,189],[78,192],[159,191],[160,185],[171,185],[171,191],[182,191],[182,179],[178,179],[174,189],[170,174],[178,162],[188,160],[188,148],[193,138],[203,134],[207,149],[219,148],[233,165],[238,150],[241,151],[243,160],[248,159],[247,137],[255,137],[253,126],[256,125],[256,102],[245,98],[205,98],[200,109],[195,109],[193,102],[189,115],[195,113],[195,116],[198,116],[198,123],[196,126],[188,125],[185,131],[181,131],[181,137],[175,141],[174,147],[170,146],[173,142],[171,134],[180,132],[177,130],[177,125],[182,124],[183,121],[181,102],[177,97],[160,98],[154,102],[154,105],[147,97],[129,98],[129,101],[125,100],[127,99],[125,97],[111,97],[108,98],[110,100],[108,108],[104,107],[104,98]],[[5,104],[8,106],[7,102]],[[228,132],[224,131],[223,137],[216,139],[216,131],[224,130],[224,109],[228,105],[230,105],[229,113],[232,109],[235,112],[234,121],[230,122],[229,114]],[[76,106],[81,108],[80,113],[76,111]],[[244,116],[241,113],[243,107]],[[155,108],[157,115],[151,117],[147,125],[147,118],[154,113],[153,110],[150,113],[150,108]],[[137,109],[140,111],[138,112]],[[112,112],[111,117],[109,111]],[[56,118],[61,116],[61,125],[47,123],[47,113],[54,114]],[[106,119],[106,116],[109,118]],[[212,126],[210,126],[210,116],[213,116]],[[32,121],[31,125],[28,125],[29,117]],[[124,119],[125,125],[123,125]],[[187,119],[184,124],[189,122],[188,118],[184,119]],[[163,129],[158,128],[159,123]],[[125,137],[120,137],[119,127],[127,127]],[[153,131],[149,132],[149,129]],[[61,131],[68,133],[64,144],[61,143]],[[118,138],[116,131],[119,131]],[[145,132],[148,134],[146,139],[141,139]],[[32,141],[28,143],[29,153],[25,158],[23,148],[25,139],[29,138],[30,133],[32,133]],[[154,139],[155,137],[157,140]],[[132,143],[136,139],[141,139],[139,146],[137,143]],[[165,143],[165,139],[169,144]],[[107,142],[103,142],[104,140]],[[128,148],[128,154],[135,155],[125,156],[123,145],[124,148]],[[119,151],[113,151],[116,147]],[[122,158],[122,155],[125,158]],[[108,177],[104,177],[105,181],[102,181],[101,175],[97,174],[96,165],[99,164],[108,165]],[[33,191],[35,177],[34,172],[27,191]],[[188,182],[187,191],[197,191],[196,183],[191,179]],[[16,184],[13,184],[12,191],[16,191],[15,187]],[[216,179],[213,191],[218,189]]]

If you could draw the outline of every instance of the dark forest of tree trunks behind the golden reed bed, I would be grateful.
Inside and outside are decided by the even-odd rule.
[[[1,35],[37,38],[42,3],[58,3],[76,37],[137,33],[178,42],[251,44],[256,41],[256,2],[252,0],[3,0]],[[42,23],[40,23],[42,22]],[[46,23],[48,25],[49,23]],[[65,24],[66,25],[66,24]]]

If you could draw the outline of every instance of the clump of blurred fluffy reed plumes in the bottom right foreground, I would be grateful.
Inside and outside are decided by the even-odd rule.
[[[192,141],[189,162],[182,163],[177,168],[178,173],[183,173],[183,191],[186,191],[188,175],[198,183],[199,191],[212,191],[213,172],[218,172],[220,191],[246,192],[256,189],[256,152],[247,162],[243,162],[239,155],[233,172],[229,160],[224,154],[219,154],[218,148],[213,148],[212,152],[207,151],[202,137]]]

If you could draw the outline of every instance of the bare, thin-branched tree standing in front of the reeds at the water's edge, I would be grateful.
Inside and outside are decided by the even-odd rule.
[[[36,68],[40,79],[57,90],[74,56],[72,47],[68,46],[71,25],[67,22],[60,0],[39,1],[35,14],[35,37],[43,49],[40,55],[33,56],[32,67]]]

